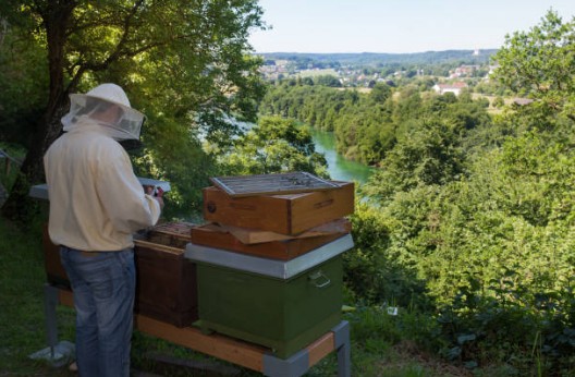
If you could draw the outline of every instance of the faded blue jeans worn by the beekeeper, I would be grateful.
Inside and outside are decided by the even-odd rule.
[[[132,248],[85,253],[62,246],[76,308],[81,377],[130,376],[136,268]]]

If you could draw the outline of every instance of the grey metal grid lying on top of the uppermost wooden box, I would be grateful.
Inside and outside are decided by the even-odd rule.
[[[337,182],[327,181],[307,172],[213,177],[211,183],[232,197],[256,195],[284,195],[339,188]]]

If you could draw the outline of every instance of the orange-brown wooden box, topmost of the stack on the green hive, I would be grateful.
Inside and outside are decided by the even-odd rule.
[[[354,211],[354,184],[337,182],[326,191],[233,197],[205,187],[204,219],[227,226],[297,234]]]

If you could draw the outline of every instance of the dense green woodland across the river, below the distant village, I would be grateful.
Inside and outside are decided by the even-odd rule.
[[[367,165],[381,165],[387,153],[423,122],[449,124],[461,143],[474,143],[473,135],[491,125],[488,100],[473,100],[469,93],[460,98],[439,96],[426,80],[397,89],[378,83],[369,94],[301,83],[284,81],[270,88],[260,112],[332,131],[342,155]]]

